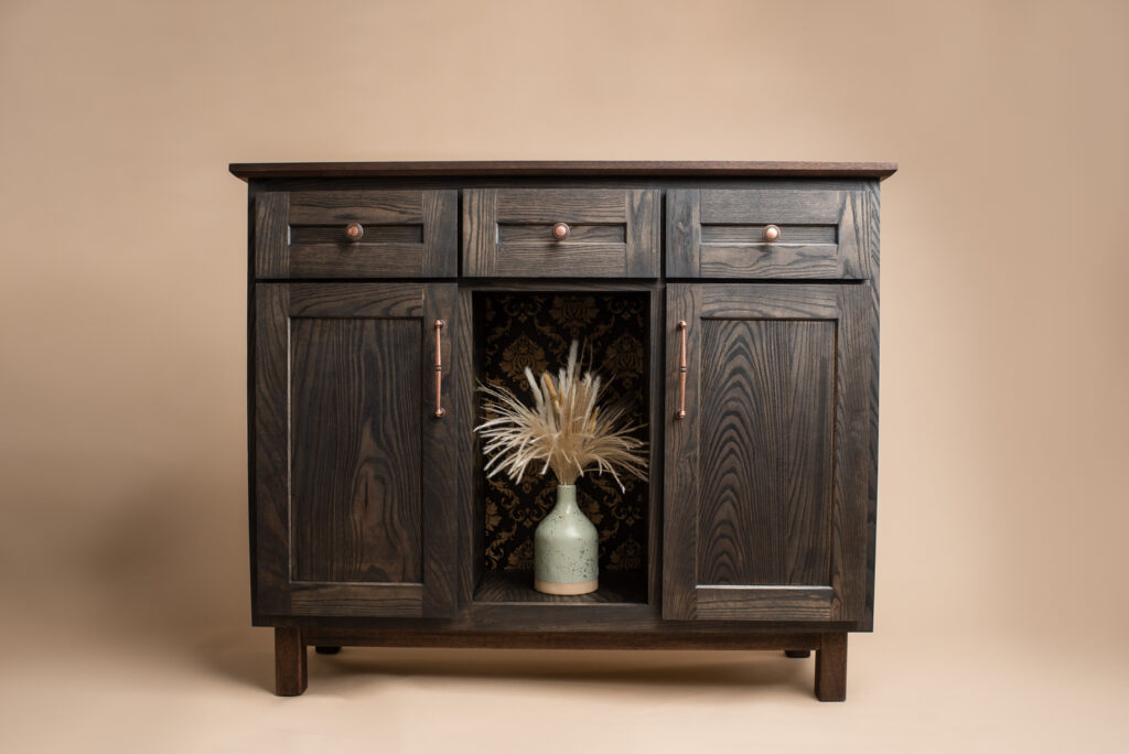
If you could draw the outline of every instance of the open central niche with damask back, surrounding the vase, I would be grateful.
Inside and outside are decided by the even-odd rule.
[[[523,402],[533,396],[525,378],[555,374],[568,359],[572,340],[580,344],[584,369],[606,384],[601,404],[622,403],[637,437],[653,453],[651,387],[654,290],[480,290],[473,295],[475,378],[508,387]],[[474,394],[475,423],[482,421],[482,394]],[[476,436],[475,436],[476,438]],[[474,506],[479,549],[475,603],[548,603],[562,605],[647,604],[650,589],[653,480],[611,474],[579,477],[580,508],[599,532],[599,588],[576,596],[546,595],[533,588],[533,535],[555,503],[552,472],[531,466],[519,482],[496,474],[487,477],[485,457],[475,439]],[[649,464],[648,473],[653,474]]]

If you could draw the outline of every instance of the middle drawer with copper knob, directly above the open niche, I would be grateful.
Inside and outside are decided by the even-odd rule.
[[[467,191],[463,243],[463,272],[472,277],[657,278],[658,192]]]

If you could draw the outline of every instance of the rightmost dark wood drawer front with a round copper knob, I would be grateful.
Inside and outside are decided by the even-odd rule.
[[[672,190],[672,278],[867,279],[869,195],[832,188]],[[877,208],[875,208],[876,210]]]

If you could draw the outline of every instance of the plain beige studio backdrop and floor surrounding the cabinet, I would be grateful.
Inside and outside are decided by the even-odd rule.
[[[1123,2],[5,0],[0,748],[1127,751],[1127,32]],[[333,159],[900,163],[846,704],[750,652],[347,650],[269,692],[227,164]]]

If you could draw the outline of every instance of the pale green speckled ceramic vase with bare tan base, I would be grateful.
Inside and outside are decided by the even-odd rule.
[[[557,485],[557,505],[533,533],[533,588],[586,595],[599,586],[599,534],[576,505],[576,485]]]

